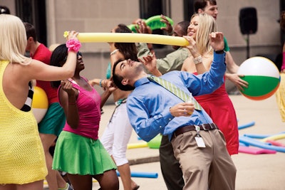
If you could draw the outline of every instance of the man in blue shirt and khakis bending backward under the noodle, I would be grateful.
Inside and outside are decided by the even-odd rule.
[[[202,64],[195,41],[190,36],[185,38],[190,43],[187,48],[195,63]],[[190,96],[209,94],[219,88],[224,83],[226,71],[223,34],[211,33],[209,39],[214,49],[209,72],[192,75],[171,71],[161,78]],[[152,61],[155,63],[155,58],[149,62]],[[118,60],[113,67],[115,85],[121,90],[133,90],[127,107],[135,132],[147,142],[160,133],[168,136],[180,162],[185,189],[234,189],[237,169],[225,147],[224,135],[209,115],[204,110],[197,110],[193,102],[184,102],[148,77],[141,62]]]

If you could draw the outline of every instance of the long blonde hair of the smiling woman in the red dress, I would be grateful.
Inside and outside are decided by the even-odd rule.
[[[199,53],[204,55],[204,53],[212,52],[212,47],[209,45],[209,34],[217,31],[217,24],[212,16],[208,14],[194,14],[191,20],[199,16],[198,30],[196,33],[196,43]]]

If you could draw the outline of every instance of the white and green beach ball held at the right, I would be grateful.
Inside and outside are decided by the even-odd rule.
[[[240,65],[237,74],[244,75],[242,80],[249,83],[249,87],[240,92],[251,100],[264,100],[279,88],[279,70],[268,58],[248,58]]]

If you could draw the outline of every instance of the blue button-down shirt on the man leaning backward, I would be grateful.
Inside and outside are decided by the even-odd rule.
[[[217,90],[224,83],[224,54],[214,53],[214,60],[209,72],[193,75],[183,71],[171,71],[162,78],[177,85],[178,88],[193,96],[204,95]],[[170,107],[182,100],[161,85],[140,78],[135,82],[135,90],[128,96],[127,107],[130,124],[135,132],[145,141],[150,141],[157,134],[168,135],[179,127],[211,123],[212,119],[204,110],[195,110],[189,117],[173,117]]]

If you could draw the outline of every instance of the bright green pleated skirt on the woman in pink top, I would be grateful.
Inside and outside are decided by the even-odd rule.
[[[68,174],[97,175],[117,167],[99,139],[62,131],[56,142],[53,169]]]

